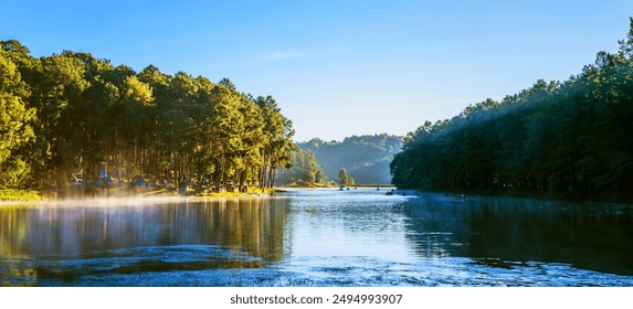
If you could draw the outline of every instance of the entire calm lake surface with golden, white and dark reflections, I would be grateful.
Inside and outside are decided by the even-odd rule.
[[[633,286],[633,206],[384,190],[0,205],[0,286]]]

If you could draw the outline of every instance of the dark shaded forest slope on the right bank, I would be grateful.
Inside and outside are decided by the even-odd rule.
[[[405,137],[390,164],[399,188],[631,198],[633,19],[618,53],[563,83],[538,81]]]

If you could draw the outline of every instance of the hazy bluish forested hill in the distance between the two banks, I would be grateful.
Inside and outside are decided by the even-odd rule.
[[[389,163],[402,150],[402,137],[387,134],[351,136],[342,141],[315,138],[297,142],[312,151],[329,180],[337,180],[341,168],[359,184],[390,183]]]

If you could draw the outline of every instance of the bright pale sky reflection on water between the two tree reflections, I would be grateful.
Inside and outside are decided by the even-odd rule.
[[[291,191],[287,233],[294,257],[373,256],[411,262],[402,204],[386,191]]]

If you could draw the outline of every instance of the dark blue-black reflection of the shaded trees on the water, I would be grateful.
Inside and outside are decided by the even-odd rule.
[[[422,195],[403,207],[422,257],[471,257],[511,268],[528,262],[633,275],[631,205]]]

